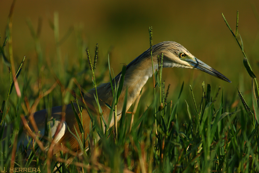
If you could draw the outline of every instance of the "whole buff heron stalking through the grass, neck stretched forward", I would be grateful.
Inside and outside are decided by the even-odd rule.
[[[206,72],[212,76],[215,76],[216,78],[222,79],[227,82],[231,82],[224,75],[222,75],[212,67],[208,66],[207,64],[203,63],[196,57],[194,57],[188,50],[186,50],[186,48],[184,48],[182,45],[176,42],[171,42],[171,41],[161,42],[159,44],[154,45],[152,48],[152,51],[153,51],[154,69],[158,67],[158,55],[163,53],[163,67],[180,67],[180,68],[197,69],[197,70]],[[121,73],[118,74],[113,79],[113,85],[114,85],[114,80],[116,83],[119,81],[120,75]],[[129,107],[132,105],[132,103],[140,94],[140,91],[144,86],[144,84],[146,84],[148,78],[150,78],[152,75],[153,75],[153,70],[152,70],[152,63],[151,63],[151,50],[148,49],[127,65],[123,89],[121,92],[121,96],[119,97],[119,104],[117,105],[118,120],[120,119],[120,114],[122,112],[122,107],[123,107],[122,104],[123,104],[126,88],[128,88],[127,106],[126,106],[126,110],[128,110]],[[97,93],[98,93],[99,99],[102,100],[100,101],[100,106],[103,110],[104,119],[106,122],[108,122],[110,109],[107,108],[104,102],[108,103],[109,105],[112,104],[113,94],[112,94],[111,83],[108,82],[108,83],[100,84],[97,87]],[[95,89],[91,89],[84,96],[85,101],[92,106],[96,104],[94,94],[95,94]],[[74,126],[75,126],[76,130],[79,132],[78,123],[76,121],[75,114],[72,110],[72,106],[67,105],[64,112],[62,112],[62,106],[54,107],[52,108],[51,112],[52,112],[52,116],[51,116],[51,119],[49,119],[49,121],[52,122],[52,119],[55,119],[55,122],[57,122],[55,123],[55,125],[53,125],[52,123],[52,126],[51,126],[52,138],[56,133],[54,140],[57,143],[59,144],[62,143],[63,145],[65,145],[67,144],[67,142],[69,142],[71,149],[73,151],[76,151],[78,148],[77,140],[67,130],[67,127],[69,127],[72,133],[76,134],[74,129]],[[65,121],[61,121],[62,114],[64,114],[65,116]],[[89,123],[91,122],[91,120],[85,108],[83,108],[82,115],[83,115],[83,127],[85,128],[84,130],[86,134],[86,133],[89,133]],[[40,110],[34,113],[34,119],[39,131],[41,131],[41,134],[44,134],[45,132],[46,116],[47,116],[47,110]],[[95,116],[97,115],[95,114]],[[61,128],[58,132],[56,132],[59,123],[61,123],[60,124]],[[109,128],[112,127],[113,124],[114,124],[114,118],[112,118],[110,125],[108,125]],[[31,127],[31,125],[29,126]],[[20,143],[22,142],[23,139],[24,138],[21,137]],[[88,143],[86,143],[86,146],[88,146]],[[59,153],[59,151],[56,151],[55,153]]]

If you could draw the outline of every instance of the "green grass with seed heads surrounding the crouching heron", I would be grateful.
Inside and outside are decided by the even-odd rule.
[[[10,16],[12,16],[12,12],[10,12]],[[153,80],[154,90],[147,90],[150,91],[148,94],[142,93],[139,102],[130,108],[129,111],[134,114],[133,121],[133,114],[126,113],[124,107],[121,120],[112,129],[101,129],[96,123],[96,117],[93,117],[92,126],[89,127],[91,128],[90,134],[84,134],[82,138],[79,137],[79,133],[84,133],[83,130],[75,134],[75,140],[78,141],[81,150],[86,149],[84,141],[89,144],[89,149],[82,155],[71,153],[68,145],[60,149],[60,156],[52,157],[51,141],[40,140],[37,134],[31,134],[36,141],[33,143],[33,147],[22,146],[16,153],[17,138],[23,130],[23,127],[20,126],[21,121],[31,121],[29,117],[36,110],[51,108],[58,104],[70,104],[71,100],[80,99],[82,92],[87,92],[83,89],[91,87],[92,84],[96,87],[96,84],[103,82],[104,76],[111,76],[110,80],[114,76],[110,65],[102,67],[98,61],[96,64],[95,59],[94,65],[90,63],[89,67],[87,59],[84,59],[83,56],[78,56],[74,60],[76,64],[79,64],[78,66],[73,66],[71,71],[65,70],[64,64],[67,62],[62,63],[59,44],[62,44],[60,40],[65,39],[66,36],[60,39],[58,14],[54,15],[54,23],[51,26],[55,35],[59,62],[55,68],[51,68],[49,64],[52,61],[41,52],[39,35],[33,34],[38,32],[33,31],[29,22],[28,25],[35,39],[35,50],[40,65],[39,71],[35,73],[28,69],[26,61],[24,63],[23,60],[14,73],[18,77],[20,97],[16,94],[18,88],[15,89],[15,75],[12,72],[8,73],[8,69],[12,65],[8,63],[12,45],[5,46],[5,42],[1,46],[1,57],[5,59],[6,67],[5,73],[0,74],[0,77],[3,81],[9,81],[9,83],[3,83],[4,87],[1,88],[1,93],[4,93],[1,95],[1,99],[5,100],[0,113],[1,136],[3,136],[6,123],[14,124],[13,129],[7,128],[7,134],[10,135],[0,143],[1,170],[5,167],[5,169],[39,168],[41,172],[55,170],[56,172],[258,172],[258,86],[255,74],[252,74],[243,51],[241,37],[239,45],[246,57],[244,65],[252,77],[252,96],[244,98],[236,86],[230,87],[236,90],[234,97],[239,95],[243,105],[236,104],[231,108],[235,98],[226,98],[224,89],[221,89],[220,86],[206,84],[206,81],[201,84],[200,91],[195,92],[199,95],[193,93],[191,86],[188,93],[184,94],[184,85],[189,88],[189,85],[184,82],[180,85],[179,91],[169,90],[167,93],[162,80],[162,70],[159,70],[154,72],[156,79]],[[233,33],[232,30],[231,32]],[[233,35],[238,41],[237,33],[239,32],[236,27]],[[8,39],[10,41],[12,37],[9,35]],[[152,40],[152,36],[150,40]],[[152,42],[150,43],[152,45]],[[9,53],[6,53],[8,46]],[[77,44],[77,46],[78,50],[85,49],[83,44]],[[96,52],[97,50],[96,48]],[[90,62],[89,53],[87,52],[87,54]],[[97,53],[95,57],[97,57]],[[163,55],[160,58],[160,62],[162,62]],[[105,61],[108,63],[108,56],[103,59],[107,59]],[[11,67],[14,69],[14,66],[18,65],[19,63],[15,63]],[[162,63],[160,65],[162,66]],[[22,66],[23,68],[20,68]],[[108,67],[110,71],[108,71]],[[46,70],[49,71],[47,75],[44,74]],[[42,81],[47,78],[54,78],[56,82],[44,84]],[[35,81],[33,81],[35,79],[39,81],[36,86],[36,88],[38,87],[36,94]],[[150,88],[154,86],[150,86]],[[114,104],[109,105],[115,112],[118,101],[116,97],[119,96],[117,93],[120,87],[120,84],[117,85],[113,94],[115,96]],[[73,96],[72,93],[74,93]],[[168,99],[166,101],[167,95],[173,95],[175,101]],[[230,96],[228,95],[228,97]],[[96,98],[98,98],[98,93],[96,93]],[[252,100],[251,105],[245,102],[247,99]],[[152,100],[152,103],[147,105],[146,100]],[[124,103],[126,101],[125,99]],[[80,110],[80,106],[78,105],[76,109]],[[102,114],[100,109],[97,112]],[[24,116],[28,118],[25,119]],[[111,111],[111,116],[113,116],[113,111]],[[117,115],[115,114],[115,116]],[[81,117],[77,117],[77,119],[80,124]],[[101,134],[103,131],[105,133]],[[99,137],[100,140],[98,140]],[[44,143],[49,145],[49,150],[44,148]],[[33,149],[26,153],[22,148]]]

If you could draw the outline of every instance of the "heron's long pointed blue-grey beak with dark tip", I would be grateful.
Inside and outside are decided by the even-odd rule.
[[[195,61],[192,59],[185,60],[187,61],[191,66],[193,66],[194,69],[201,70],[203,72],[206,72],[212,76],[215,76],[216,78],[219,78],[221,80],[224,80],[226,82],[231,82],[226,76],[215,70],[214,68],[208,66],[207,64],[203,63],[199,59],[195,58]]]

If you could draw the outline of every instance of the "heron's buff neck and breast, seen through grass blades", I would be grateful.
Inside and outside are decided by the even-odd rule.
[[[154,61],[153,64],[154,64],[154,70],[155,70],[157,67],[157,61]],[[115,89],[114,83],[116,83],[116,86],[118,86],[120,75],[121,73],[118,74],[115,77],[115,79],[113,79],[113,82],[112,82],[113,89]],[[145,58],[145,59],[136,58],[134,61],[129,63],[129,65],[127,65],[123,88],[117,104],[117,114],[119,115],[118,119],[120,119],[120,116],[121,116],[126,91],[127,91],[127,106],[126,106],[126,111],[127,111],[129,107],[134,103],[136,98],[140,95],[140,91],[142,87],[146,84],[148,78],[150,78],[152,75],[153,75],[153,69],[152,69],[151,58]],[[112,105],[113,92],[111,88],[111,83],[108,82],[105,84],[100,84],[97,87],[97,93],[98,93],[98,98],[100,99],[99,103],[102,107],[102,110],[104,111],[104,119],[105,121],[108,121],[110,110],[107,108],[107,106],[105,106],[104,103]],[[85,100],[87,100],[89,103],[94,104],[95,103],[94,95],[95,95],[95,89],[93,88],[88,93],[85,94]],[[113,125],[113,123],[114,123],[114,119],[112,118],[110,126]]]

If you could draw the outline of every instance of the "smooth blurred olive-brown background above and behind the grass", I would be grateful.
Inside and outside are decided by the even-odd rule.
[[[2,0],[0,3],[2,44],[12,1]],[[193,90],[197,90],[201,94],[201,83],[205,81],[205,84],[212,84],[213,90],[216,90],[216,85],[221,85],[224,87],[226,96],[231,96],[232,99],[234,96],[237,99],[237,86],[244,94],[250,93],[251,80],[243,66],[243,54],[221,16],[223,13],[234,31],[237,10],[239,10],[239,32],[243,39],[245,53],[255,74],[259,76],[258,0],[16,1],[13,19],[13,50],[16,68],[26,55],[29,74],[39,71],[35,42],[26,24],[26,20],[31,20],[36,30],[39,17],[42,19],[39,37],[41,51],[44,57],[51,59],[52,68],[57,67],[54,32],[50,23],[53,22],[54,12],[58,12],[60,38],[72,28],[71,33],[60,47],[62,61],[66,59],[69,62],[65,67],[67,69],[72,69],[74,60],[80,51],[83,57],[86,57],[84,50],[77,48],[78,40],[82,39],[84,48],[88,46],[92,55],[95,44],[99,44],[98,65],[100,68],[107,62],[107,54],[110,52],[111,67],[115,75],[118,74],[122,68],[121,63],[128,64],[149,48],[148,27],[152,26],[153,44],[163,41],[178,42],[195,57],[232,81],[232,83],[227,83],[192,69],[164,69],[163,79],[166,81],[166,86],[168,83],[171,84],[171,92],[179,91],[184,81],[184,91],[189,90],[188,85],[191,84]],[[43,64],[46,65],[45,60],[43,61]],[[1,60],[1,76],[8,73],[4,66],[5,64]],[[100,69],[98,70],[100,71]],[[8,76],[0,79],[1,85],[4,87],[1,89],[1,102],[5,99],[4,93],[7,93],[9,88],[8,79]],[[37,80],[34,82],[37,91]],[[109,82],[107,73],[104,76],[104,82]],[[49,83],[53,84],[54,78]],[[151,88],[152,81],[149,80],[148,83],[145,87],[150,86],[149,88]],[[197,97],[200,98],[200,96]]]

